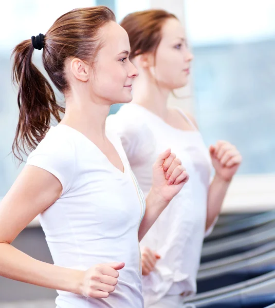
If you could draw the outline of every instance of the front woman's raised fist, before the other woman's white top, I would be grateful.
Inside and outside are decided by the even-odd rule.
[[[181,161],[168,149],[158,157],[153,166],[152,190],[163,202],[170,202],[189,180]]]

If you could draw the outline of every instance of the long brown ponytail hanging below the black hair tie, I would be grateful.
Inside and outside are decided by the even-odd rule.
[[[49,82],[32,63],[33,50],[31,40],[26,40],[12,52],[12,80],[19,85],[17,104],[20,110],[12,151],[20,161],[21,152],[27,154],[44,138],[51,115],[60,122],[59,111],[64,112],[64,108],[57,104]]]

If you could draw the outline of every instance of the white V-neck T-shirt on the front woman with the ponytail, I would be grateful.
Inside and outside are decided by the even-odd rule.
[[[58,308],[142,308],[138,228],[145,201],[120,139],[106,131],[124,173],[81,132],[51,127],[27,164],[56,176],[61,197],[39,215],[54,264],[85,270],[99,263],[125,262],[115,292],[93,299],[58,291]]]

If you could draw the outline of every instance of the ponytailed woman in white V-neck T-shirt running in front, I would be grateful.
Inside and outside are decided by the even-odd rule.
[[[62,120],[64,109],[32,63],[34,49],[43,49],[44,68],[64,94]],[[31,153],[1,202],[0,275],[55,288],[58,308],[142,308],[139,241],[188,181],[166,149],[145,201],[119,137],[105,130],[110,106],[132,100],[138,71],[129,53],[126,31],[103,6],[68,12],[13,51],[20,109],[13,151],[21,161]],[[54,265],[11,245],[37,215]]]

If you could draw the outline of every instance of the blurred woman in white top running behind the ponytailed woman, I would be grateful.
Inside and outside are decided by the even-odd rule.
[[[217,141],[208,150],[191,115],[168,106],[169,94],[188,83],[193,59],[176,16],[146,10],[127,15],[121,26],[129,35],[130,60],[139,76],[134,81],[132,103],[111,115],[108,125],[119,132],[145,196],[152,185],[151,167],[157,153],[167,147],[177,153],[190,175],[187,185],[141,241],[145,306],[178,307],[182,295],[196,292],[205,232],[221,210],[242,157],[226,141]],[[173,181],[166,166],[170,159],[164,170]],[[210,182],[212,166],[215,175]]]

